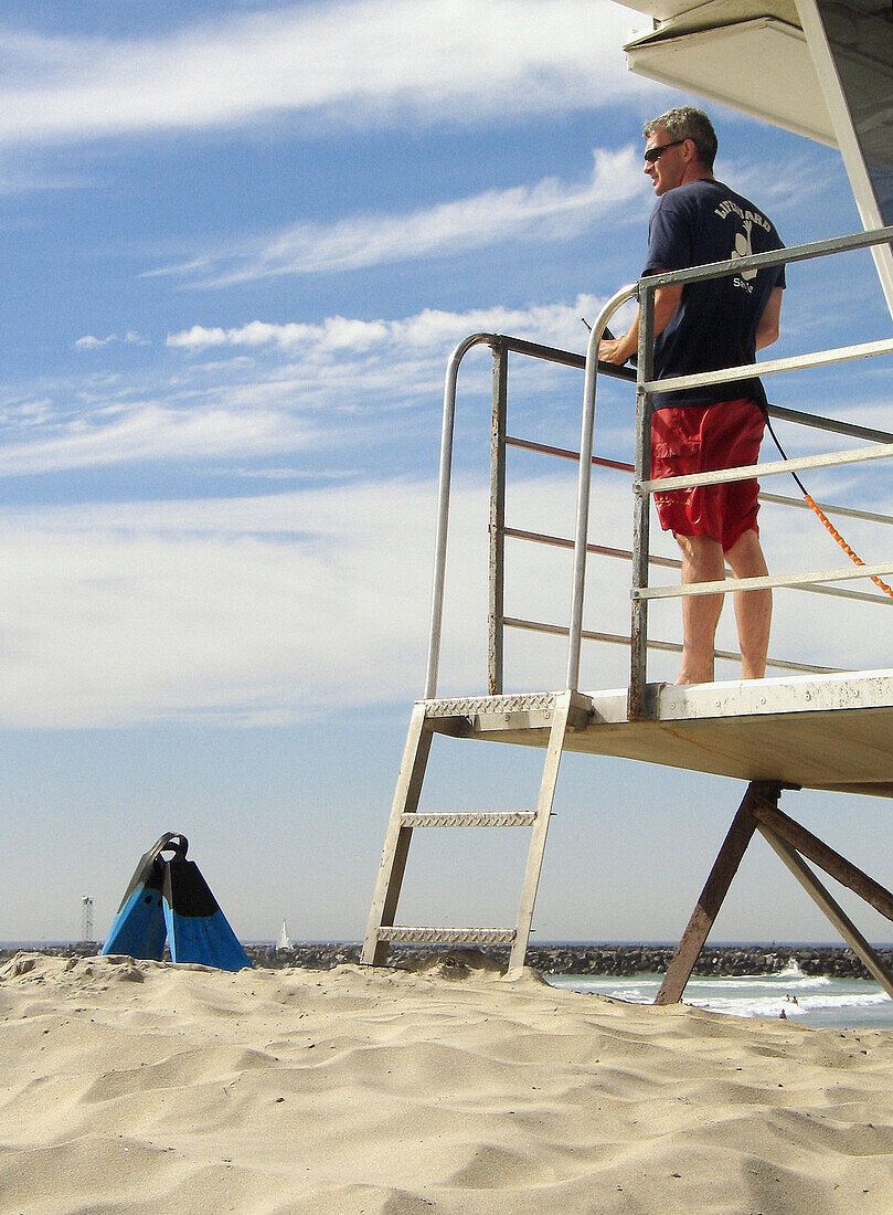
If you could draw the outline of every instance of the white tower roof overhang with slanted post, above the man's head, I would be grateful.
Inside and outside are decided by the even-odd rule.
[[[631,0],[629,68],[840,149],[863,226],[893,226],[889,0]],[[893,316],[893,247],[872,250]]]

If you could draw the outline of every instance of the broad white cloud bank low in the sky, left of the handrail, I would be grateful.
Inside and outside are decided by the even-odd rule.
[[[0,723],[276,722],[408,695],[430,507],[403,484],[13,512]]]

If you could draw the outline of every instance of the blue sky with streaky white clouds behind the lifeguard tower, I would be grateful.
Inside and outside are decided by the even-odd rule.
[[[243,939],[283,917],[299,939],[362,937],[424,690],[446,361],[475,332],[583,351],[581,318],[635,279],[642,124],[697,102],[627,72],[645,23],[607,0],[6,0],[0,939],[78,938],[84,895],[102,939],[164,831],[188,836]],[[708,108],[718,175],[786,243],[858,230],[835,151]],[[888,332],[870,261],[850,255],[789,273],[774,352]],[[475,350],[443,694],[486,686],[490,377]],[[888,425],[887,369],[858,377],[776,377],[769,395]],[[629,459],[631,395],[599,391],[597,450]],[[575,447],[581,396],[577,372],[513,358],[509,429]],[[789,454],[835,446],[781,434]],[[867,468],[810,488],[891,512]],[[514,454],[509,524],[571,535],[575,477]],[[597,474],[593,538],[628,543],[631,521],[628,481]],[[765,508],[763,535],[773,569],[842,564],[802,512]],[[849,521],[847,537],[884,558],[882,527]],[[564,622],[566,555],[508,548],[507,610]],[[663,537],[654,549],[672,555]],[[627,578],[590,563],[587,627],[628,628]],[[773,654],[893,666],[880,608],[803,600],[776,595]],[[652,612],[655,635],[678,639],[677,612]],[[507,688],[564,672],[563,643],[507,639]],[[623,651],[587,651],[584,688],[624,682]],[[516,750],[436,740],[422,808],[532,806],[542,755]],[[566,756],[533,939],[678,936],[742,792]],[[886,801],[782,808],[893,882],[877,871]],[[413,843],[400,919],[514,923],[526,832],[425,835],[440,838]],[[757,843],[714,937],[830,932]]]

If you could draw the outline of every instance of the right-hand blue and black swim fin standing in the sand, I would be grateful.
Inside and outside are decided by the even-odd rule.
[[[177,855],[165,865],[163,893],[171,961],[200,962],[221,971],[250,967],[248,954],[193,860]]]

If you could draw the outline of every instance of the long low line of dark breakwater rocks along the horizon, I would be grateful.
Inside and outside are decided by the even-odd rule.
[[[673,956],[672,945],[532,945],[527,965],[543,974],[662,974]],[[306,966],[330,970],[343,962],[360,961],[358,944],[299,944],[294,949],[273,950],[247,946],[256,966]],[[881,957],[893,967],[893,949],[878,949]],[[434,950],[392,945],[389,965],[414,966],[422,954],[459,953],[445,948]],[[485,948],[487,957],[508,965],[508,950]],[[706,945],[695,974],[778,974],[798,968],[804,974],[825,974],[830,978],[870,978],[869,972],[846,946],[833,945]]]

